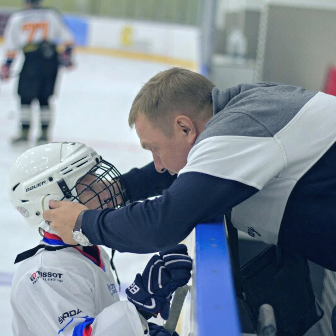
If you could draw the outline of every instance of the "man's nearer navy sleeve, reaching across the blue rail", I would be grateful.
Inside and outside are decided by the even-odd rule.
[[[224,213],[257,191],[237,181],[185,173],[162,197],[118,210],[85,211],[82,228],[93,244],[120,252],[158,252],[180,243],[198,222]]]

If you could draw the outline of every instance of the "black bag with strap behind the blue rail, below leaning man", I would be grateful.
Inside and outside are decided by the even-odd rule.
[[[268,303],[274,309],[278,336],[303,335],[324,315],[306,259],[270,245],[240,267],[237,229],[230,221],[226,227],[241,321],[249,320],[256,331],[259,307]]]

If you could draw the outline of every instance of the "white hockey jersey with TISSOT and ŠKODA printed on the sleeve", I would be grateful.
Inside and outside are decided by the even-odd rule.
[[[40,244],[65,245],[48,233]],[[109,257],[96,245],[38,250],[15,273],[10,302],[14,336],[148,335],[135,306],[119,300]]]

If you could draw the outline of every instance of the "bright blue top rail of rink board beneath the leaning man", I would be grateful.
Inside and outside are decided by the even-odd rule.
[[[241,334],[223,223],[196,226],[198,336]]]

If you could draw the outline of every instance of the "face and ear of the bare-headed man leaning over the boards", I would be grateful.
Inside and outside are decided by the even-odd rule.
[[[152,152],[155,169],[171,175],[178,173],[187,163],[187,157],[193,144],[178,125],[172,125],[173,134],[165,135],[159,128],[140,113],[134,123],[141,146]]]

